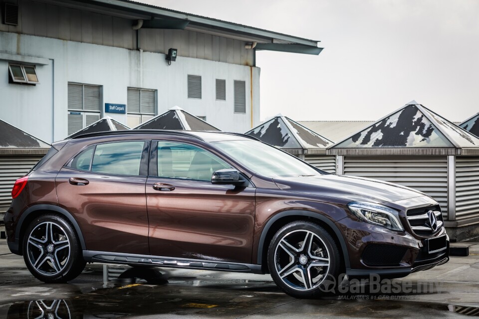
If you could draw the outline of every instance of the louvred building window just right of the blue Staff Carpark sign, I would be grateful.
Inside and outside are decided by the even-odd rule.
[[[127,125],[134,128],[155,116],[156,90],[127,89]]]

